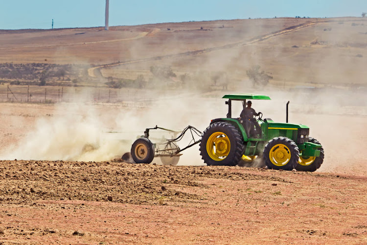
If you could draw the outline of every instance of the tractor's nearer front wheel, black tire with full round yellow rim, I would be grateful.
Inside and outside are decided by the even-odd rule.
[[[291,171],[298,164],[298,146],[289,138],[275,137],[266,144],[263,158],[268,169]]]

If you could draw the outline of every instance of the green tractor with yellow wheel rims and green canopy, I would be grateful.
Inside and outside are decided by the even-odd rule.
[[[246,99],[271,99],[268,96],[253,94],[225,95],[228,104],[227,118],[211,121],[203,133],[200,142],[200,155],[207,165],[243,166],[251,163],[257,156],[262,156],[269,169],[314,172],[320,168],[324,153],[321,144],[309,137],[309,127],[302,124],[275,123],[262,119],[259,113],[256,122],[261,132],[248,119],[232,118],[232,101]],[[258,131],[258,130],[257,130]]]

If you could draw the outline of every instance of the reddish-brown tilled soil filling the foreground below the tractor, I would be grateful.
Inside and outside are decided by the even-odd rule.
[[[0,161],[4,244],[365,244],[366,177]]]

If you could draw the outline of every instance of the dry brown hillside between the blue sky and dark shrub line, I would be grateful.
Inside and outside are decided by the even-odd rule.
[[[258,65],[279,86],[364,84],[367,18],[0,30],[0,53],[0,63],[80,64],[98,67],[92,74],[106,77],[169,66],[178,75],[221,72],[241,81]]]

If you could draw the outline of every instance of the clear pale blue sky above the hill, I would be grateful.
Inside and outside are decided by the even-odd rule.
[[[0,0],[0,29],[104,26],[105,0]],[[273,17],[360,17],[367,0],[110,0],[110,26]],[[367,17],[366,17],[367,18]]]

